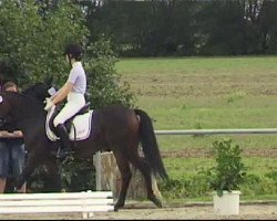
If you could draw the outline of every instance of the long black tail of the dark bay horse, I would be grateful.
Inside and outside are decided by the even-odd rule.
[[[154,175],[160,175],[163,179],[168,179],[158,150],[154,128],[150,116],[142,109],[134,109],[140,116],[140,139],[144,156],[150,164]]]

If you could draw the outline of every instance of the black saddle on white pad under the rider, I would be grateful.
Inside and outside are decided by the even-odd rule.
[[[70,130],[72,128],[72,122],[73,122],[74,117],[78,116],[78,115],[83,115],[85,113],[89,113],[90,112],[90,105],[91,105],[91,103],[88,102],[76,114],[74,114],[72,117],[70,117],[69,119],[66,119],[66,122],[64,123],[64,126],[65,126],[68,133],[70,133]],[[54,120],[55,116],[60,113],[60,110],[61,110],[61,106],[57,106],[57,108],[54,109],[53,115],[49,119],[49,128],[55,135],[58,135],[58,134],[57,134],[53,120]]]

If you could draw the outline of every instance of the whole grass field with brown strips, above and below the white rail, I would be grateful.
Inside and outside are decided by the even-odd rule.
[[[130,83],[137,97],[136,106],[153,118],[155,129],[277,126],[277,56],[124,59],[116,70]],[[212,165],[213,160],[202,154],[222,138],[232,138],[244,149],[250,173],[264,176],[277,171],[277,135],[157,138],[162,152],[176,151],[181,156],[164,156],[173,179]],[[264,186],[268,189],[260,192],[264,196],[270,194],[273,187],[277,190],[277,181]],[[246,196],[252,197],[253,193]]]

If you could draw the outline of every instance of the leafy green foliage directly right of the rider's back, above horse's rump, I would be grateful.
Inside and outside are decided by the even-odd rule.
[[[121,81],[114,66],[117,62],[111,40],[104,35],[91,43],[86,51],[86,72],[92,106],[95,108],[111,104],[134,106],[136,97],[131,93],[130,84]]]

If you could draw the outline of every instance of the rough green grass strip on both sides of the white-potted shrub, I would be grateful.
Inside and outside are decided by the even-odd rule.
[[[240,191],[246,201],[276,200],[277,165],[271,158],[246,158],[243,160],[247,167],[246,181],[240,185]],[[207,185],[207,177],[201,171],[207,171],[215,166],[213,158],[165,158],[168,181],[158,181],[160,189],[168,202],[179,201],[208,201],[213,190]],[[184,199],[186,199],[184,201]]]

